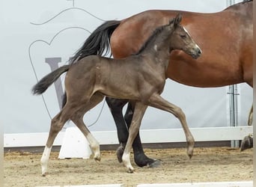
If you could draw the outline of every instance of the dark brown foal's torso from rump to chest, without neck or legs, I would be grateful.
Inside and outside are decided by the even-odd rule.
[[[162,92],[165,71],[150,58],[131,55],[114,59],[91,55],[70,67],[65,79],[67,93],[76,90],[91,96],[95,92],[118,99],[146,99]]]

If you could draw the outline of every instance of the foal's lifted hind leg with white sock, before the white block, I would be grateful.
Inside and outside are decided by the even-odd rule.
[[[94,153],[94,159],[97,162],[100,162],[100,144],[98,141],[94,138],[93,135],[91,135],[91,132],[85,126],[85,123],[83,121],[83,117],[87,111],[89,111],[91,108],[94,108],[98,103],[100,103],[103,100],[104,96],[101,93],[94,93],[93,96],[91,96],[91,99],[83,104],[81,108],[76,111],[70,119],[73,121],[73,123],[76,124],[76,126],[81,130],[83,135],[85,135],[85,138],[88,140],[91,150]]]

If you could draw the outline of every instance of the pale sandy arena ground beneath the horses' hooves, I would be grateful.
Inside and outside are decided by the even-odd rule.
[[[64,186],[86,184],[189,183],[253,180],[253,150],[240,153],[229,147],[195,148],[189,159],[186,149],[145,149],[147,156],[160,159],[159,168],[138,168],[128,174],[115,151],[103,151],[100,164],[94,159],[58,159],[52,152],[49,174],[40,176],[37,153],[4,153],[4,186]]]

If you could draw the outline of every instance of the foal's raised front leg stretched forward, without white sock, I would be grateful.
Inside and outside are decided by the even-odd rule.
[[[187,154],[189,158],[193,155],[195,140],[192,136],[192,133],[189,131],[189,127],[186,123],[186,116],[181,110],[181,108],[177,107],[176,105],[171,104],[170,102],[166,101],[165,99],[162,99],[159,94],[155,93],[152,96],[150,96],[150,99],[148,101],[148,105],[153,106],[155,108],[159,108],[164,111],[168,111],[171,114],[174,114],[175,117],[177,117],[180,120],[180,123],[183,127],[183,130],[186,135],[186,142],[188,144],[187,147]]]

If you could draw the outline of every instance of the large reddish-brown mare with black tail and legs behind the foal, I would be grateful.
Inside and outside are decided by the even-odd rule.
[[[252,3],[243,1],[217,13],[193,13],[180,10],[147,10],[121,21],[100,25],[85,41],[73,61],[86,55],[103,55],[109,51],[114,58],[125,58],[138,52],[150,32],[177,13],[183,15],[182,24],[198,42],[204,55],[192,59],[181,51],[171,52],[166,77],[184,85],[201,88],[222,87],[246,82],[252,87]],[[118,129],[121,144],[118,159],[127,142],[132,120],[132,103],[125,117],[122,108],[127,100],[106,98]],[[144,155],[138,136],[132,145],[138,166],[156,164]]]

